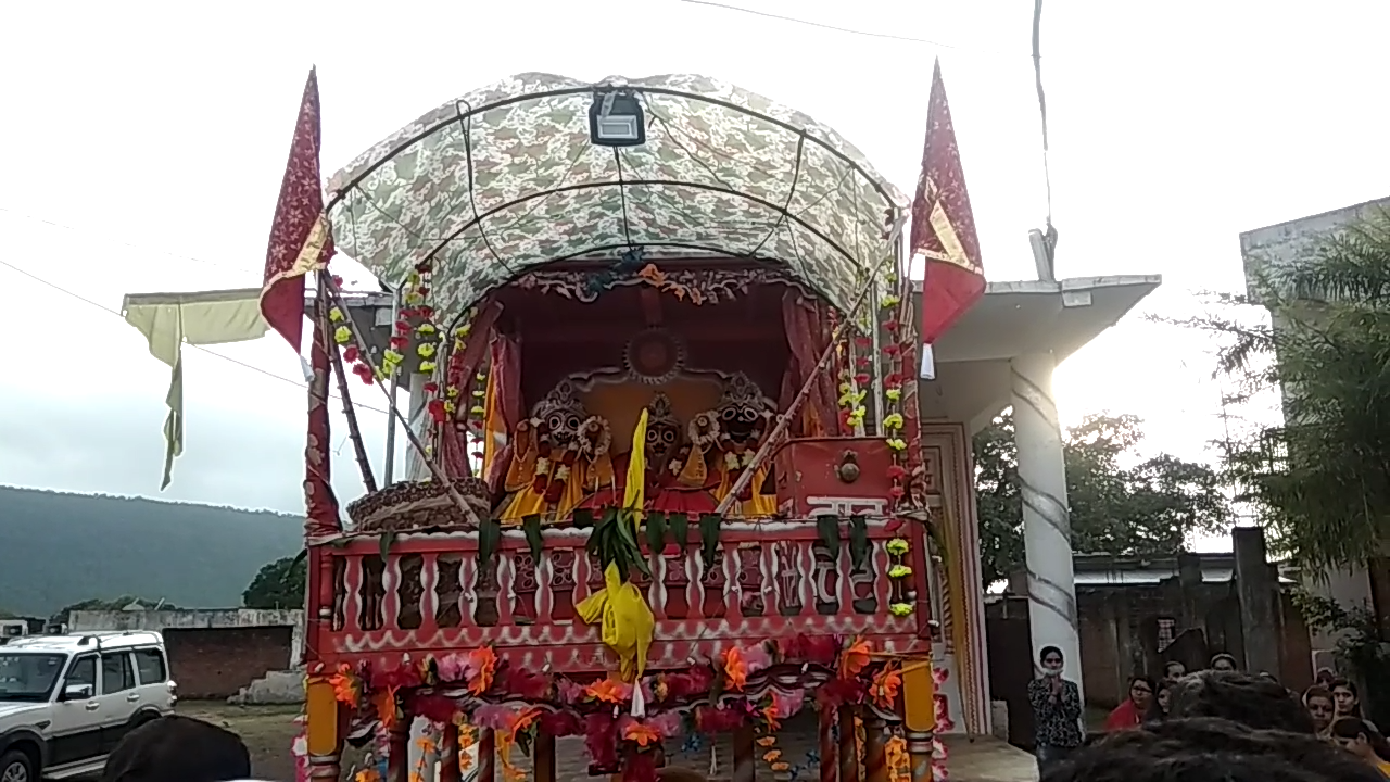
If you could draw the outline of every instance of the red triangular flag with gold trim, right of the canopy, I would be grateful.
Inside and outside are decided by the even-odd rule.
[[[927,139],[922,150],[917,196],[912,202],[912,260],[922,259],[922,341],[935,342],[984,295],[984,266],[965,189],[960,150],[941,61],[931,74]]]

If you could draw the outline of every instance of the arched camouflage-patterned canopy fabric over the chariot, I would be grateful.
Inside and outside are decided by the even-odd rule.
[[[848,309],[906,200],[810,117],[706,77],[609,78],[646,143],[589,142],[595,86],[523,74],[449,102],[328,184],[338,246],[389,285],[428,262],[452,317],[539,264],[756,257]]]

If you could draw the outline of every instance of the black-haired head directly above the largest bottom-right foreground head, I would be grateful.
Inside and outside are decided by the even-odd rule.
[[[1264,676],[1240,671],[1201,671],[1172,687],[1169,718],[1220,717],[1261,731],[1316,733],[1298,696]]]

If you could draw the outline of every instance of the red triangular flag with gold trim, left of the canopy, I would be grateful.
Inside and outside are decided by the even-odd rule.
[[[327,266],[334,255],[318,171],[318,77],[310,70],[285,178],[279,184],[261,288],[265,323],[279,331],[295,352],[304,333],[304,276]]]

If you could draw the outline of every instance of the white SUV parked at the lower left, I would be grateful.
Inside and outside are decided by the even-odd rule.
[[[158,633],[28,636],[0,647],[0,782],[100,772],[135,726],[174,711]]]

